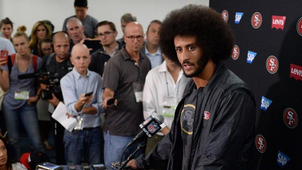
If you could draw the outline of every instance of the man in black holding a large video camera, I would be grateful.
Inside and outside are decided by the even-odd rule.
[[[53,35],[52,44],[54,53],[43,57],[41,72],[58,73],[59,80],[72,70],[73,65],[69,60],[69,39],[68,35],[64,32],[57,32]],[[49,90],[49,85],[41,84],[41,89]],[[45,92],[45,91],[44,91]],[[58,106],[59,102],[63,101],[62,94],[55,96],[51,94],[48,98],[50,103],[48,106],[48,112],[51,114],[54,112],[54,108]],[[54,129],[54,142],[56,150],[56,164],[65,164],[64,159],[64,146],[63,135],[64,127],[51,117],[51,125]]]

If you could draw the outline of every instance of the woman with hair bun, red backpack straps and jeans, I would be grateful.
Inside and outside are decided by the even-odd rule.
[[[16,159],[19,159],[21,156],[19,120],[23,123],[34,149],[44,151],[38,128],[36,107],[40,97],[40,89],[36,88],[38,85],[36,85],[35,78],[18,79],[18,75],[36,72],[41,67],[42,59],[29,53],[28,36],[25,33],[15,33],[13,44],[17,53],[11,55],[11,60],[8,61],[11,63],[0,60],[0,86],[3,91],[7,92],[2,102],[2,113],[6,122],[9,141],[15,146]],[[9,67],[10,64],[11,67]]]

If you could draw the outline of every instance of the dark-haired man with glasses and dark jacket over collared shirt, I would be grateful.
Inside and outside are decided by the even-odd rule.
[[[97,35],[101,41],[101,48],[91,54],[89,70],[103,75],[105,63],[122,49],[120,42],[115,40],[118,32],[110,21],[102,21],[97,24]]]

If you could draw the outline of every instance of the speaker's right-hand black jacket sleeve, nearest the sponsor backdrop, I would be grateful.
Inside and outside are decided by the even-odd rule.
[[[255,133],[255,112],[253,96],[248,91],[235,89],[225,94],[196,169],[233,169],[246,164]]]

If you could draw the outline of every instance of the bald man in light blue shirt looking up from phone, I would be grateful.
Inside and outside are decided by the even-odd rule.
[[[76,130],[64,131],[66,163],[80,165],[82,157],[88,164],[100,163],[103,155],[101,76],[88,70],[91,56],[84,44],[73,46],[70,60],[74,67],[61,79],[60,84],[68,114],[81,121]]]

